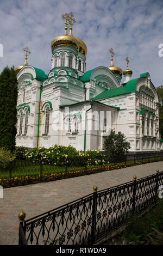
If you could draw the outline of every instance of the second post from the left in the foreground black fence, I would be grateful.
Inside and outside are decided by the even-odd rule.
[[[97,187],[93,187],[93,205],[92,205],[92,228],[91,228],[91,245],[95,243],[96,235],[96,213],[97,213]]]

